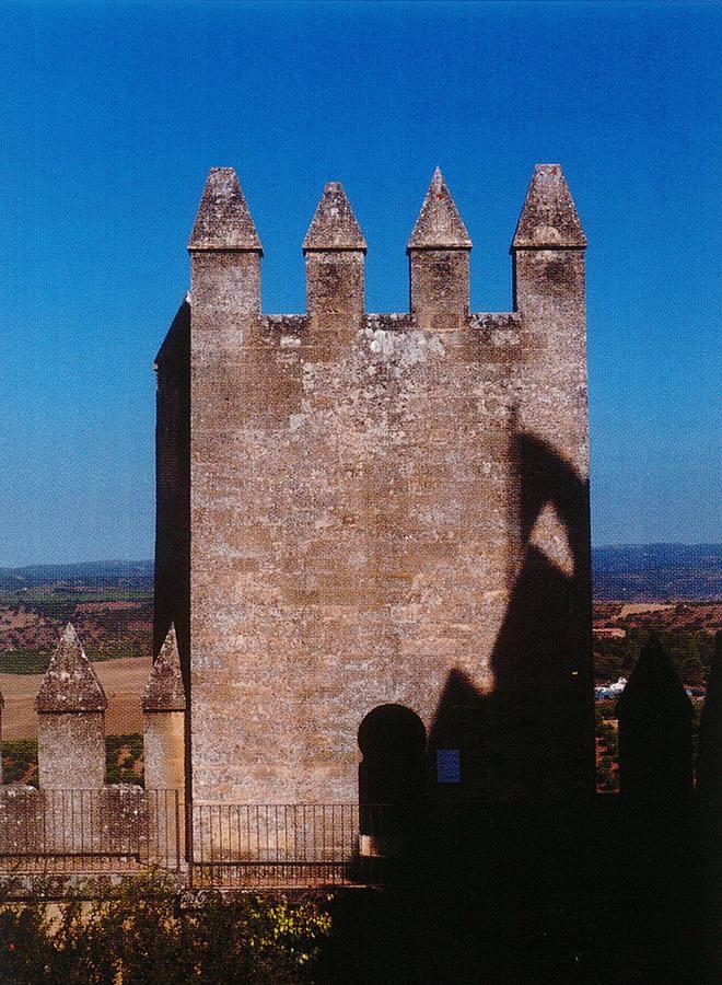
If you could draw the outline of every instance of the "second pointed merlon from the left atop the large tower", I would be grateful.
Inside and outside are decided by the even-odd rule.
[[[312,328],[358,328],[364,315],[366,242],[338,182],[324,188],[303,241]]]

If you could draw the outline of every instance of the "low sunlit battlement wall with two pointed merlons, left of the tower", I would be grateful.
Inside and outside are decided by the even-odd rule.
[[[68,624],[36,698],[38,787],[0,783],[0,860],[22,867],[54,856],[79,872],[95,871],[114,859],[128,870],[139,861],[179,864],[186,699],[173,627],[142,700],[144,790],[105,783],[106,704]],[[0,710],[2,706],[0,695]],[[0,763],[1,740],[0,732]]]

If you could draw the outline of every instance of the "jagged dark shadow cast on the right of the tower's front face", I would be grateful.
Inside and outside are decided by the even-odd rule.
[[[429,750],[458,749],[459,789],[434,799],[580,801],[594,790],[591,572],[586,483],[545,442],[514,432],[521,485],[522,563],[492,654],[493,691],[450,673]],[[557,513],[571,554],[567,573],[533,543],[545,508]]]

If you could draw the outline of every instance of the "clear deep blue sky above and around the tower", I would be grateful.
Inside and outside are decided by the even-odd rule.
[[[436,164],[473,306],[504,311],[532,167],[559,161],[591,244],[594,542],[722,540],[721,25],[714,3],[5,2],[0,565],[152,555],[153,356],[226,164],[267,311],[303,310],[330,179],[368,309],[405,310]]]

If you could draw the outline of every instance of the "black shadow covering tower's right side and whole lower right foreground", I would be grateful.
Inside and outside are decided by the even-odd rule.
[[[513,448],[523,563],[491,657],[494,688],[449,674],[429,732],[428,796],[406,854],[384,859],[386,894],[353,928],[358,942],[369,935],[358,981],[717,982],[715,692],[702,746],[710,779],[694,798],[684,688],[648,674],[643,657],[622,753],[629,796],[594,796],[587,488],[533,436],[515,434]],[[566,530],[569,573],[533,543],[548,505]],[[645,760],[650,728],[664,737],[666,725],[674,740]],[[453,750],[461,783],[439,783],[436,753]],[[636,797],[648,767],[655,796]]]

